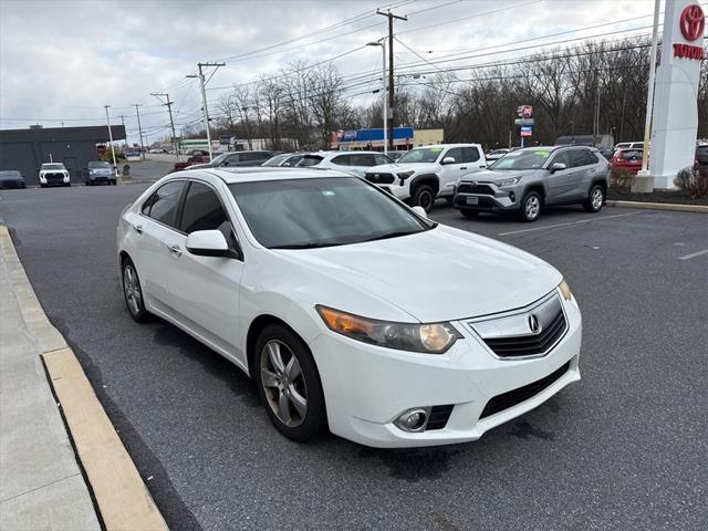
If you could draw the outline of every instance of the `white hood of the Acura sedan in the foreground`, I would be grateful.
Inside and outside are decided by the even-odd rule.
[[[343,292],[367,292],[427,323],[521,308],[562,280],[532,254],[445,226],[350,246],[273,252],[336,280]],[[343,299],[339,309],[353,311],[346,306]]]

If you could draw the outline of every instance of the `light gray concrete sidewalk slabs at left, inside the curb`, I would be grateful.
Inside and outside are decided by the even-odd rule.
[[[3,236],[0,238],[4,240]],[[45,348],[66,345],[61,335],[40,331],[41,317],[46,319],[43,312],[22,314],[19,301],[33,293],[21,290],[21,285],[12,281],[19,261],[13,263],[17,254],[4,251],[3,246],[0,250],[0,529],[100,530],[88,488],[40,358]]]

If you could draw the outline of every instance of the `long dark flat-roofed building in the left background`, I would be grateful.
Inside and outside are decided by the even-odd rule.
[[[114,140],[125,139],[122,125],[112,125],[111,132]],[[32,186],[39,184],[42,163],[64,163],[72,180],[80,180],[88,162],[98,158],[96,146],[108,140],[107,126],[1,129],[0,169],[21,171]]]

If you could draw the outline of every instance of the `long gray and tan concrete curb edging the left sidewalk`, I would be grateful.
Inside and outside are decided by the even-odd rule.
[[[105,529],[167,530],[79,360],[42,310],[4,226],[0,226],[0,252],[28,333],[42,351],[50,384],[63,409]]]

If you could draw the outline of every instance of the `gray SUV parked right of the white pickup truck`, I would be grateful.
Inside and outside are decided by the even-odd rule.
[[[485,171],[462,176],[452,205],[466,218],[514,212],[524,221],[535,221],[551,205],[582,204],[587,212],[598,212],[608,175],[610,163],[592,147],[517,149]]]

